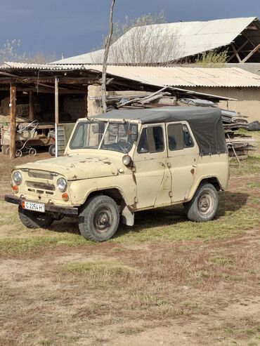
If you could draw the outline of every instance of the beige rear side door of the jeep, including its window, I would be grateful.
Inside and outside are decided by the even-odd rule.
[[[199,147],[188,122],[167,124],[167,145],[171,201],[184,201],[193,185],[199,157]]]

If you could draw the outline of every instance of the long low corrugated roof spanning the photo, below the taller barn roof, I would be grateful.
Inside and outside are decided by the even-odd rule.
[[[102,65],[36,65],[7,62],[0,71],[15,73],[15,69],[50,71],[84,70],[102,72]],[[136,67],[109,65],[107,73],[124,79],[155,86],[176,87],[260,87],[260,76],[239,68],[203,67]]]

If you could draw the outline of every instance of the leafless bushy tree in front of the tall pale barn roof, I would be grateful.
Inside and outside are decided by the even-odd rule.
[[[141,15],[117,22],[112,36],[108,63],[125,65],[168,65],[181,52],[178,31],[166,23],[164,13]],[[92,60],[100,61],[93,52]]]

